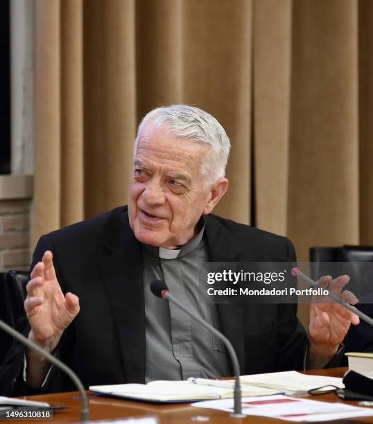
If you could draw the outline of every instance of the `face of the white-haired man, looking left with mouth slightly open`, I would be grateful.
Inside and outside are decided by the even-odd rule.
[[[149,124],[142,130],[134,161],[128,211],[137,240],[169,249],[193,236],[209,213],[211,186],[201,165],[207,148]]]

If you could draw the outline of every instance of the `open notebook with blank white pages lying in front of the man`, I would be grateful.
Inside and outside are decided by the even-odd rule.
[[[220,381],[220,380],[218,380]],[[222,381],[223,383],[223,381]],[[147,385],[104,385],[89,386],[89,390],[108,396],[142,400],[153,403],[191,402],[196,400],[224,399],[233,397],[233,385],[223,383],[226,387],[196,385],[188,381],[152,381]],[[260,396],[275,394],[277,391],[262,387],[241,387],[242,396]]]

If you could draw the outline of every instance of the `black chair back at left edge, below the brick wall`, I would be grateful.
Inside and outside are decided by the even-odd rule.
[[[27,271],[8,271],[0,274],[0,319],[16,330],[17,320],[25,315]],[[12,344],[12,337],[0,330],[0,364]]]

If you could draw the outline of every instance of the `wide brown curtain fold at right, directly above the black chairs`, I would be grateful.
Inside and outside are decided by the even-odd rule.
[[[288,236],[358,243],[357,1],[293,1]],[[295,36],[296,35],[296,36]]]

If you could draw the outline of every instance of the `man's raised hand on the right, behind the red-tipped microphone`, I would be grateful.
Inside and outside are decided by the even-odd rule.
[[[349,276],[342,275],[336,279],[323,276],[319,285],[336,294],[340,299],[352,305],[358,303],[356,296],[342,288],[349,282]],[[336,353],[345,338],[349,326],[358,324],[359,318],[339,303],[326,296],[316,296],[311,300],[309,323],[309,365],[321,367],[327,364]]]

